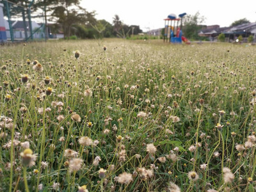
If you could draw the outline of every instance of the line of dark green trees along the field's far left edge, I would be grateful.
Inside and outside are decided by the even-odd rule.
[[[9,0],[25,7],[31,0]],[[80,6],[81,0],[35,0],[31,6],[31,15],[37,10],[43,10],[47,26],[51,33],[64,34],[64,38],[76,35],[78,38],[125,37],[142,33],[140,26],[124,24],[118,15],[114,15],[112,24],[95,18],[96,12],[88,12]],[[12,15],[22,16],[19,9],[12,9]],[[6,15],[6,12],[4,12]],[[33,18],[42,15],[33,15]]]

